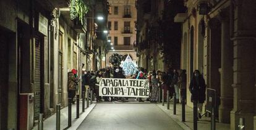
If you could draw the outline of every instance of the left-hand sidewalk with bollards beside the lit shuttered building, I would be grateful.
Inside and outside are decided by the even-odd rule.
[[[89,101],[90,102],[90,101]],[[79,102],[79,118],[76,119],[77,116],[77,104],[72,104],[72,126],[68,129],[77,129],[82,121],[86,118],[86,116],[93,110],[95,107],[95,102],[90,104],[88,108],[86,108],[86,100],[85,100],[85,112],[82,112],[82,101]],[[68,107],[64,107],[61,109],[61,129],[67,128],[67,118],[68,118]],[[33,130],[37,130],[38,126],[36,125]],[[43,121],[43,129],[47,130],[55,130],[56,129],[56,113],[50,116],[46,120]]]

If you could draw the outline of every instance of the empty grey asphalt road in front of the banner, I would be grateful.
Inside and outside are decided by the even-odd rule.
[[[78,129],[182,129],[155,104],[97,104]]]

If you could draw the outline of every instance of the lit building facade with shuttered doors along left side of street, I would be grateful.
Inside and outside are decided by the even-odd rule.
[[[0,2],[0,129],[32,129],[39,113],[48,118],[57,104],[67,106],[69,71],[81,76],[82,69],[94,69],[95,7],[104,4],[108,12],[108,5],[86,2],[90,11],[83,23],[71,20],[64,0]],[[102,14],[105,21],[107,15]]]

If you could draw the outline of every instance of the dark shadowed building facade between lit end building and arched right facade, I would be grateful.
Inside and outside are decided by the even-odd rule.
[[[184,12],[182,1],[137,1],[137,54],[139,66],[167,71],[180,68],[181,24],[174,16]]]

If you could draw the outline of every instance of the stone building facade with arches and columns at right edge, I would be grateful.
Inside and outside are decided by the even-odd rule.
[[[238,129],[256,129],[255,1],[184,1],[187,12],[177,14],[182,23],[181,68],[187,70],[187,88],[199,70],[217,95],[218,119]],[[187,100],[190,93],[187,91]],[[187,102],[190,107],[192,104]]]

